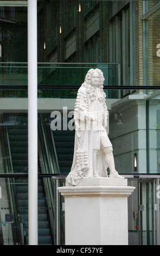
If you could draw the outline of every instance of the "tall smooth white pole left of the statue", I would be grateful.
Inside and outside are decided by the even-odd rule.
[[[37,191],[37,0],[28,0],[28,228],[38,244]]]

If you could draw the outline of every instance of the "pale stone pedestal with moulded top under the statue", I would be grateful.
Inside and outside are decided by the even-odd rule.
[[[57,188],[65,197],[66,245],[127,245],[127,179],[83,178]]]

